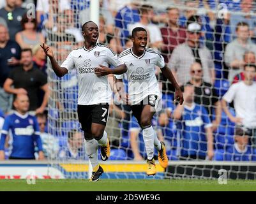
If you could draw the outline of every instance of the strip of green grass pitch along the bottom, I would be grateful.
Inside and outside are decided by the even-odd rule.
[[[218,180],[203,179],[102,179],[93,183],[85,179],[38,179],[29,185],[26,180],[0,180],[0,191],[256,191],[256,181],[228,180],[220,185]]]

